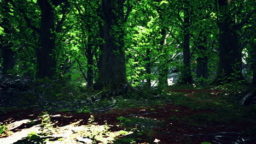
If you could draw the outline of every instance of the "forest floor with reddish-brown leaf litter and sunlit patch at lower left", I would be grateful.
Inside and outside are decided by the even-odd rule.
[[[170,87],[150,99],[16,98],[21,105],[0,107],[0,143],[255,144],[255,107],[231,93]]]

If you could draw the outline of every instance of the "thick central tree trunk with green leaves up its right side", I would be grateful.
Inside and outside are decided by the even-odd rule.
[[[127,84],[124,53],[124,1],[103,1],[104,47],[95,88],[110,88],[113,95]]]

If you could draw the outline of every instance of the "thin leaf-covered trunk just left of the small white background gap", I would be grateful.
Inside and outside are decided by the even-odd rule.
[[[167,80],[167,76],[168,76],[168,68],[167,68],[167,58],[168,56],[166,55],[167,51],[166,51],[166,30],[164,28],[161,29],[161,41],[160,41],[160,45],[161,45],[161,51],[162,53],[164,53],[163,55],[161,55],[160,57],[160,65],[159,65],[159,87],[166,87],[168,86],[168,80]]]

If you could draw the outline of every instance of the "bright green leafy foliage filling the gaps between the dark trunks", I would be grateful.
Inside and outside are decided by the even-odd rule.
[[[51,4],[54,13],[54,29],[51,29],[54,37],[51,39],[55,46],[53,53],[49,55],[53,55],[56,61],[55,77],[71,81],[82,91],[86,90],[88,71],[92,71],[93,81],[100,73],[105,16],[102,4],[101,1],[60,1],[58,4]],[[253,56],[250,54],[253,53],[254,40],[250,34],[254,31],[253,19],[250,16],[252,5],[252,1],[235,1],[229,8],[230,15],[236,17],[231,17],[231,20],[243,24],[236,33],[241,43],[243,62],[247,65],[253,63]],[[145,80],[150,80],[151,85],[161,88],[161,82],[167,83],[168,75],[174,71],[184,71],[182,61],[185,31],[190,33],[191,72],[197,87],[210,83],[217,76],[217,37],[220,33],[218,22],[222,15],[216,9],[216,3],[206,1],[202,4],[199,0],[189,0],[187,3],[178,0],[126,1],[124,10],[125,21],[118,23],[125,29],[122,50],[126,55],[127,80],[132,87],[145,86]],[[185,10],[189,12],[190,22],[184,31]],[[41,44],[44,43],[40,41],[42,35],[38,31],[42,28],[40,14],[43,12],[40,5],[34,1],[1,2],[0,13],[0,35],[4,36],[0,40],[3,46],[11,43],[11,50],[15,51],[16,58],[15,67],[9,69],[8,73],[37,77],[38,47],[42,47]],[[228,24],[233,26],[233,23]],[[114,33],[113,36],[119,37],[119,33]],[[1,50],[3,55],[4,50]],[[203,62],[200,60],[202,58],[207,59],[207,76],[197,77],[197,66]],[[1,56],[1,62],[3,61],[4,57]],[[251,79],[249,77],[252,76],[252,70],[246,68],[243,71],[247,79]],[[234,73],[220,81],[237,81],[236,76],[237,73]],[[162,88],[166,86],[165,84]],[[147,93],[150,92],[143,94],[143,97],[150,97],[151,94]]]

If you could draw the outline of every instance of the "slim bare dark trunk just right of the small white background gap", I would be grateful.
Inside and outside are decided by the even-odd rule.
[[[188,2],[187,2],[188,3]],[[185,7],[188,5],[185,4]],[[184,8],[184,48],[183,48],[183,70],[182,70],[182,83],[192,84],[193,77],[190,67],[190,34],[189,34],[189,10]]]

